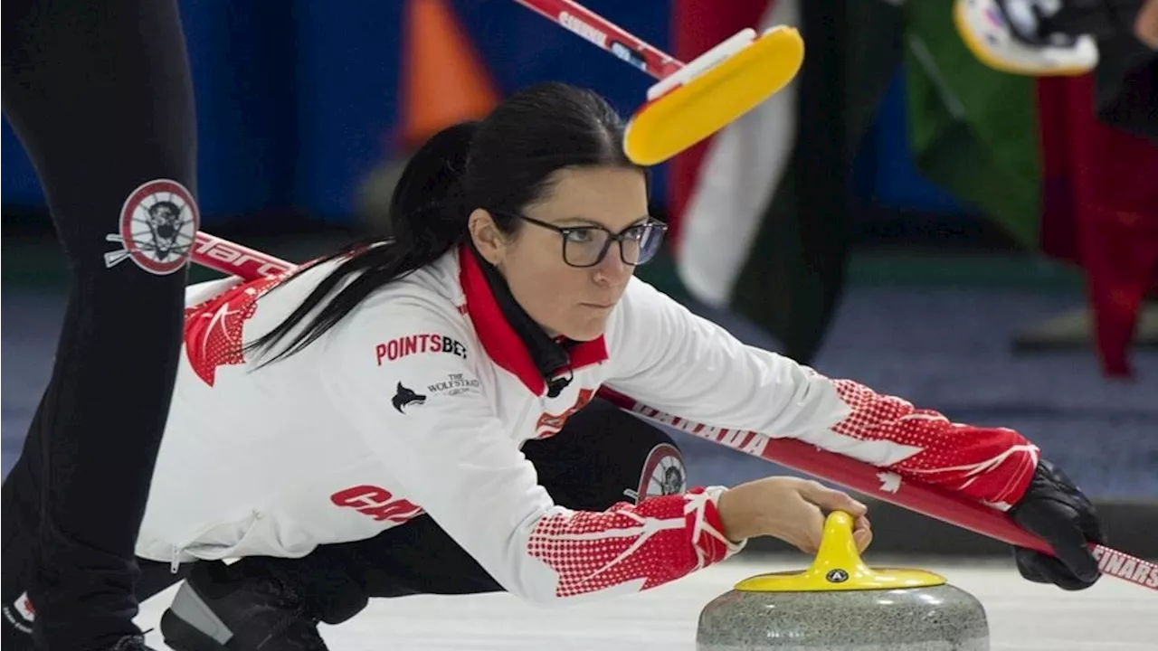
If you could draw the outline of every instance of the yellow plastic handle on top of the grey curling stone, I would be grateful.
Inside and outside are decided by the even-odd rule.
[[[827,592],[845,590],[894,590],[944,585],[945,578],[923,570],[873,570],[860,558],[852,537],[856,520],[834,511],[824,520],[820,549],[812,565],[802,572],[776,572],[745,579],[735,585],[742,592]]]

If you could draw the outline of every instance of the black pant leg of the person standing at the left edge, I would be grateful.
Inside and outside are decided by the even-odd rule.
[[[45,456],[29,593],[47,649],[100,649],[137,631],[133,547],[197,228],[192,83],[175,0],[13,0],[0,17],[0,108],[73,281],[35,420]]]

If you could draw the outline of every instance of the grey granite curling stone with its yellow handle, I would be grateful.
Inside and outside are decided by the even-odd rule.
[[[985,651],[985,609],[932,572],[871,569],[835,512],[813,564],[758,575],[699,614],[697,651]]]

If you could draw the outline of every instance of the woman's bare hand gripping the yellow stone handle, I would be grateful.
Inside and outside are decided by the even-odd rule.
[[[724,535],[732,541],[768,535],[815,554],[828,513],[844,511],[856,518],[852,537],[857,550],[864,551],[872,542],[872,528],[865,515],[868,507],[811,480],[765,477],[740,484],[720,495],[717,509]]]

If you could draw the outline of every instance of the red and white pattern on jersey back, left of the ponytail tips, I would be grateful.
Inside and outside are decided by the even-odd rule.
[[[257,312],[257,299],[283,276],[242,283],[193,307],[185,308],[185,356],[206,385],[217,381],[219,366],[245,363],[242,328]]]

